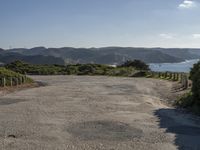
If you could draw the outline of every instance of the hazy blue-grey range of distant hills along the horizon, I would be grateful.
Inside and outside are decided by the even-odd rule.
[[[2,52],[0,52],[1,54]],[[67,63],[98,63],[121,64],[126,60],[139,59],[146,63],[174,63],[186,59],[200,58],[200,49],[164,49],[164,48],[45,48],[11,49],[3,52],[0,61],[20,59],[30,63],[67,64]],[[9,55],[5,55],[9,54]],[[12,54],[12,55],[10,55]],[[4,61],[3,61],[4,60]]]

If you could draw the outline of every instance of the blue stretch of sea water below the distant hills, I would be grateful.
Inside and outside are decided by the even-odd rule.
[[[180,63],[151,63],[149,67],[152,71],[190,72],[190,69],[199,59],[186,60]]]

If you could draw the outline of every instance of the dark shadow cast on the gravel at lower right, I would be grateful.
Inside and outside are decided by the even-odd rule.
[[[159,118],[160,128],[175,134],[174,143],[179,150],[200,150],[200,126],[184,119],[176,109],[159,109],[155,115]]]

